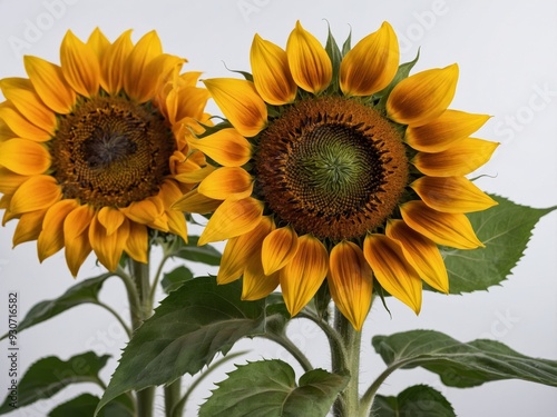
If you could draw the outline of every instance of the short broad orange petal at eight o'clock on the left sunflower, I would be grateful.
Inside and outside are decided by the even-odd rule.
[[[10,211],[22,212],[47,209],[62,197],[57,180],[50,176],[35,176],[23,182],[13,193]]]

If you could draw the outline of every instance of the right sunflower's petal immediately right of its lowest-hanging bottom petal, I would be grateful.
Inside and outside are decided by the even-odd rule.
[[[384,235],[368,235],[363,256],[381,287],[419,314],[421,279],[404,257],[400,244]]]

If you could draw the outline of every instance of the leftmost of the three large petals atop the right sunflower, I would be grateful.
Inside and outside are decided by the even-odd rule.
[[[289,68],[286,52],[258,34],[255,34],[250,51],[253,81],[266,102],[282,106],[294,101],[297,86]]]

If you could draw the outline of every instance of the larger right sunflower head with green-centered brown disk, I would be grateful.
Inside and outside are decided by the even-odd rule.
[[[212,214],[199,244],[228,239],[218,282],[280,285],[294,316],[326,279],[358,330],[374,285],[417,314],[422,280],[448,292],[438,245],[481,247],[465,214],[496,205],[465,177],[497,143],[469,137],[488,116],[448,109],[458,66],[409,77],[387,22],[343,53],[297,22],[250,58],[253,77],[204,81],[228,123],[190,139],[216,169],[175,205]]]

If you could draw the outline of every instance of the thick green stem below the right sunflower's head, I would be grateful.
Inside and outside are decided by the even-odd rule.
[[[359,380],[360,380],[360,347],[361,332],[334,309],[334,328],[343,340],[342,349],[332,347],[332,369],[334,374],[349,374],[350,380],[346,388],[339,395],[333,405],[335,417],[360,416]]]

